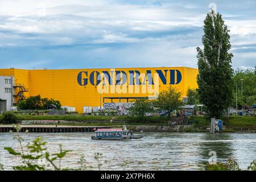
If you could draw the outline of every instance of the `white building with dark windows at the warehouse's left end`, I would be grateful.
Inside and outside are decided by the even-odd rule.
[[[0,113],[10,111],[14,102],[13,77],[0,76]]]

